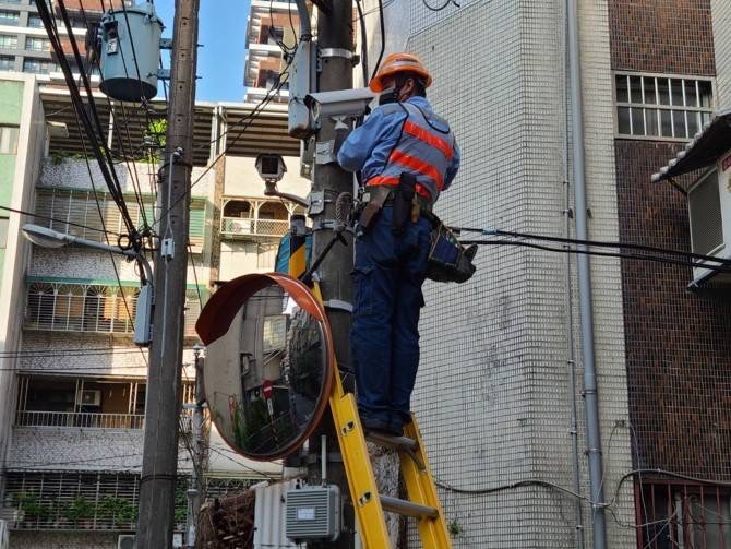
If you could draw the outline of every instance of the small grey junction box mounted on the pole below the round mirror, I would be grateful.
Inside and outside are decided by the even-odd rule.
[[[340,535],[343,501],[335,485],[287,491],[286,533],[295,542],[329,540]]]

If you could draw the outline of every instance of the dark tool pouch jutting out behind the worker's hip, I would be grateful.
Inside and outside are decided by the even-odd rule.
[[[472,259],[477,246],[465,248],[454,232],[433,216],[431,247],[427,265],[427,278],[435,282],[467,282],[476,271]]]

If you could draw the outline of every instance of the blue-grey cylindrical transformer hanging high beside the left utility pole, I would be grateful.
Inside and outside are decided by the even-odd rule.
[[[142,102],[157,95],[163,21],[145,2],[109,10],[100,23],[99,89],[113,99]]]

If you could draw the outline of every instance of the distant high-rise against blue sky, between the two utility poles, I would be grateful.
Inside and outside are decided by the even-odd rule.
[[[251,1],[243,71],[247,102],[260,100],[268,89],[277,86],[287,63],[281,46],[293,48],[299,31],[299,14],[293,0]],[[286,103],[289,97],[288,87],[285,83],[273,100]]]

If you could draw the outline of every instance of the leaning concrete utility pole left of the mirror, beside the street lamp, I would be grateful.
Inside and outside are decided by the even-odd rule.
[[[197,60],[199,0],[176,0],[170,104],[155,258],[155,314],[149,350],[137,549],[172,547],[178,421],[181,407],[188,225]]]

